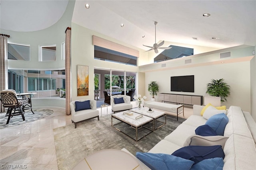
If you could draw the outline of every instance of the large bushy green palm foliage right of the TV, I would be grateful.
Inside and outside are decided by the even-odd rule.
[[[210,96],[220,97],[221,102],[227,102],[227,97],[230,95],[230,86],[224,82],[224,79],[214,80],[207,85],[206,94]]]

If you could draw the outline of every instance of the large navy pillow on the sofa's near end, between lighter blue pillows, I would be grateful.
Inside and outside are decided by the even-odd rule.
[[[184,159],[189,159],[197,164],[204,159],[223,158],[225,154],[221,145],[214,146],[187,146],[180,148],[172,153],[174,156],[179,156]]]

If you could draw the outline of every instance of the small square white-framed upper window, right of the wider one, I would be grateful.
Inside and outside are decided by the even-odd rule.
[[[40,45],[39,61],[56,61],[56,45]]]

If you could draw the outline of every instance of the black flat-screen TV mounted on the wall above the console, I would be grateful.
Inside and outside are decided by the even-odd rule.
[[[194,75],[171,77],[171,91],[194,92]]]

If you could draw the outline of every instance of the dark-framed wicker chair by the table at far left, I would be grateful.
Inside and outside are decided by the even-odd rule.
[[[10,118],[13,116],[21,115],[23,121],[24,117],[24,106],[30,101],[28,98],[18,99],[17,94],[13,90],[2,90],[0,92],[0,101],[2,102],[3,107],[8,108],[5,116],[8,116],[6,124],[9,123]]]

